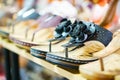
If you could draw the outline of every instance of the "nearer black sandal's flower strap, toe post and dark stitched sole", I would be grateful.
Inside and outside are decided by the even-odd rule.
[[[69,43],[63,45],[65,48],[65,53],[47,53],[47,61],[60,66],[78,70],[79,65],[95,61],[97,58],[93,58],[92,56],[88,57],[90,59],[87,58],[85,60],[81,58],[69,58],[69,56],[72,54],[72,51],[84,47],[84,43],[86,41],[96,40],[107,46],[112,39],[112,33],[110,31],[94,23],[83,21],[80,21],[79,25],[76,25],[76,27],[70,33],[70,36],[71,39]],[[71,47],[74,47],[74,49],[68,53],[68,49]]]

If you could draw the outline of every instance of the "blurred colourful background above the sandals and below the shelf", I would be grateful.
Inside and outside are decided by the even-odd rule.
[[[14,21],[37,19],[31,15],[54,13],[70,19],[94,22],[112,32],[120,28],[120,0],[0,0],[0,27]],[[31,15],[29,18],[26,17]],[[0,80],[5,80],[4,58],[0,46]],[[21,80],[67,80],[20,57]]]

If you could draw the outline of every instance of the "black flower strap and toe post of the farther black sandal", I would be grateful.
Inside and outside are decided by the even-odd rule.
[[[72,30],[71,21],[66,18],[61,20],[60,24],[57,25],[54,31],[54,38],[49,40],[49,52],[52,52],[52,42],[57,41],[57,43],[65,40],[68,37],[70,31]]]

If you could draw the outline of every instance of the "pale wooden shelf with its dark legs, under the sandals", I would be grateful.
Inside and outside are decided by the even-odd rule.
[[[7,38],[0,36],[0,45],[2,45],[4,48],[3,52],[5,56],[6,80],[20,80],[18,62],[19,56],[33,61],[34,63],[37,63],[38,65],[43,66],[44,68],[49,69],[69,80],[87,80],[80,73],[73,73],[55,64],[51,64],[46,60],[32,56],[26,49],[18,47],[15,43],[10,42]],[[114,80],[120,80],[120,75],[117,75]]]

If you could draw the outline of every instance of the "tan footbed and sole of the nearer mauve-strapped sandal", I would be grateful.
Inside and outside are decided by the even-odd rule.
[[[52,38],[51,34],[53,30],[54,28],[46,28],[46,29],[40,30],[34,37],[35,39],[34,41],[31,41],[32,35],[33,35],[32,33],[29,33],[31,35],[28,36],[28,38],[25,38],[25,36],[18,36],[18,35],[12,35],[12,34],[9,36],[9,38],[12,42],[18,44],[20,47],[23,47],[29,50],[31,46],[48,45],[49,44],[48,40]],[[29,32],[34,32],[34,31],[32,30]],[[39,35],[41,36],[40,37],[41,39],[38,39]]]

